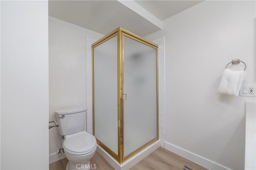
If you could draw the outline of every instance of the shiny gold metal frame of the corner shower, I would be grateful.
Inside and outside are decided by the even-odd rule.
[[[112,150],[110,150],[106,145],[104,145],[100,140],[97,140],[97,143],[99,146],[101,146],[108,154],[110,154],[113,158],[115,158],[120,164],[122,164],[124,161],[128,160],[130,157],[134,156],[136,153],[140,152],[142,149],[146,148],[146,146],[154,143],[156,140],[159,138],[158,134],[158,45],[155,43],[152,43],[140,36],[137,36],[136,34],[133,34],[132,32],[129,32],[125,30],[124,28],[118,27],[114,31],[110,32],[100,40],[96,41],[95,43],[92,44],[92,132],[94,135],[94,47],[97,47],[98,45],[110,40],[114,36],[117,36],[117,51],[118,51],[118,59],[117,59],[117,78],[118,78],[118,155],[115,154]],[[156,49],[156,101],[157,101],[157,137],[151,140],[150,142],[144,144],[134,152],[128,154],[127,156],[124,157],[124,124],[123,124],[123,116],[124,116],[124,102],[123,102],[123,89],[124,89],[124,77],[123,77],[123,61],[124,61],[124,56],[123,56],[123,39],[124,36],[131,38],[137,42],[143,43],[145,45],[148,45],[150,47],[153,47]]]

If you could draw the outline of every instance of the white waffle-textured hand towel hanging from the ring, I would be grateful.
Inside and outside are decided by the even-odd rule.
[[[220,80],[218,93],[238,96],[243,79],[244,70],[232,71],[231,69],[225,69]]]

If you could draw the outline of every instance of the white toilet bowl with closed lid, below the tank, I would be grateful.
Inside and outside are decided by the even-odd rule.
[[[80,131],[64,136],[63,149],[69,162],[66,170],[89,170],[94,167],[90,164],[90,159],[94,156],[97,143],[96,138]]]

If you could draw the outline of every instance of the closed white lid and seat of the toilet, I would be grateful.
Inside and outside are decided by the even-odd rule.
[[[65,140],[63,142],[63,148],[66,150],[66,152],[75,155],[82,155],[92,152],[96,146],[96,138],[86,131],[69,134],[65,136]]]

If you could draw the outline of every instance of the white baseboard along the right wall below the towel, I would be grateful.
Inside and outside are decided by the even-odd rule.
[[[188,150],[182,149],[178,146],[175,146],[174,144],[170,144],[168,142],[165,142],[165,149],[170,150],[171,152],[174,152],[175,154],[178,154],[192,162],[195,162],[196,164],[199,164],[209,170],[230,170],[229,168],[217,164],[216,162],[213,162],[211,160],[208,160],[206,158],[203,158],[202,156],[199,156],[197,154],[194,154],[192,152],[189,152]]]

